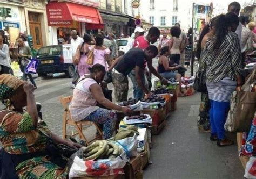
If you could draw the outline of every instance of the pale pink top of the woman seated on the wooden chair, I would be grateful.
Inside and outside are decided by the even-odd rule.
[[[81,78],[83,78],[82,76]],[[80,121],[89,116],[93,111],[99,109],[96,99],[92,96],[90,86],[98,84],[92,78],[85,78],[77,83],[73,90],[73,98],[69,105],[72,120]]]

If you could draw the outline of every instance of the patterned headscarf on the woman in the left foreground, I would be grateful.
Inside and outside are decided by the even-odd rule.
[[[8,96],[14,94],[24,81],[16,76],[3,74],[0,75],[0,100],[3,102]]]

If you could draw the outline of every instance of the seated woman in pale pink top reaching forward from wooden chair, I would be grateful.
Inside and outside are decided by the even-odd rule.
[[[87,120],[103,125],[104,139],[109,139],[114,133],[117,116],[116,113],[107,109],[122,111],[125,114],[130,113],[131,110],[113,104],[104,97],[99,85],[106,74],[103,65],[93,65],[89,70],[91,73],[81,76],[73,91],[73,98],[69,105],[71,117],[74,121]],[[97,102],[107,109],[96,106]]]

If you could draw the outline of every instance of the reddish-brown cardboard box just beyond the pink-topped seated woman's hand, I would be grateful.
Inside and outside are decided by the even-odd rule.
[[[152,125],[159,126],[166,118],[166,108],[160,109],[144,109],[141,111],[142,114],[148,114],[152,118]]]

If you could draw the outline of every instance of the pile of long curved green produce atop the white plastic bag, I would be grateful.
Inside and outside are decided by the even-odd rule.
[[[112,142],[100,140],[93,142],[93,144],[88,147],[85,147],[83,156],[84,160],[114,159],[121,155],[122,152],[123,149]]]

